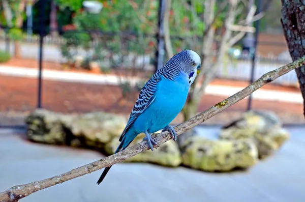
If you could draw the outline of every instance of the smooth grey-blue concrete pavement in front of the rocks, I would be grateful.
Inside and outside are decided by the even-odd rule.
[[[305,201],[305,127],[287,128],[291,138],[278,153],[247,172],[209,174],[184,167],[119,163],[101,185],[101,171],[38,191],[20,201]],[[216,138],[219,128],[197,128]],[[0,191],[42,180],[102,158],[98,152],[40,145],[24,131],[0,131]]]

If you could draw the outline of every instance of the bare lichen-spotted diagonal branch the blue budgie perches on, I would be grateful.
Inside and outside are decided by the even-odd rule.
[[[293,69],[301,67],[305,65],[305,57],[302,57],[295,62],[292,62],[288,65],[280,67],[276,70],[268,72],[260,77],[257,81],[247,86],[245,89],[239,91],[238,93],[232,95],[231,97],[219,102],[218,104],[210,107],[209,109],[205,110],[204,112],[199,113],[197,116],[193,117],[192,119],[177,125],[174,129],[177,132],[177,135],[180,135],[182,132],[190,130],[191,128],[201,124],[202,122],[208,120],[209,118],[215,116],[217,113],[223,111],[224,109],[228,108],[229,106],[235,104],[236,102],[246,98],[254,91],[261,88],[263,85],[275,80],[276,78],[290,72]],[[158,142],[158,145],[168,141],[171,139],[168,131],[162,132],[159,134],[154,134],[153,138]],[[155,146],[158,147],[158,146]],[[130,148],[127,148],[124,151],[119,153],[113,154],[101,160],[95,161],[93,163],[86,164],[84,166],[75,168],[69,172],[66,172],[62,175],[57,175],[45,180],[32,182],[24,185],[17,185],[14,186],[4,192],[0,193],[0,201],[4,202],[16,202],[21,198],[24,198],[36,191],[54,186],[56,184],[60,184],[74,178],[89,174],[90,172],[99,170],[101,168],[113,165],[115,163],[124,161],[132,156],[135,156],[143,151],[148,150],[148,144],[146,141],[142,141],[137,143]]]

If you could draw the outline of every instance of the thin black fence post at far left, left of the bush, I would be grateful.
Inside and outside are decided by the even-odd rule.
[[[45,35],[44,8],[46,0],[39,1],[39,71],[38,71],[38,92],[37,92],[37,108],[41,108],[41,90],[42,90],[42,57],[43,57],[43,38]]]

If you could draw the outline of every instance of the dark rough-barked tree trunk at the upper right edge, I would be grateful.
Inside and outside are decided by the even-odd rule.
[[[305,55],[305,2],[282,0],[281,22],[292,60]],[[305,66],[295,69],[303,99],[305,100]],[[305,116],[305,101],[303,102]]]

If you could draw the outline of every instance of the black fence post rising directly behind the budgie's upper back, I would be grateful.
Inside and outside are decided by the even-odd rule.
[[[157,50],[156,50],[156,61],[155,61],[155,72],[163,67],[164,56],[165,56],[165,45],[164,45],[164,13],[166,7],[166,0],[159,0],[158,9],[158,32],[157,32]]]

